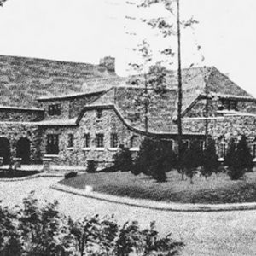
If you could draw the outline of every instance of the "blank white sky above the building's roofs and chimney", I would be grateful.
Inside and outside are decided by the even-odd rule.
[[[182,19],[194,16],[199,21],[182,32],[183,67],[215,66],[256,96],[256,1],[180,2]],[[127,15],[136,19],[127,20]],[[142,39],[148,39],[155,53],[169,42],[176,49],[175,38],[165,41],[140,21],[168,15],[160,5],[137,9],[125,0],[8,0],[0,9],[0,54],[87,63],[113,55],[117,73],[125,75],[127,64],[137,61],[132,49]]]

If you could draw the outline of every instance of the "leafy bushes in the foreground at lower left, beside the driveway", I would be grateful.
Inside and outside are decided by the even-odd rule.
[[[0,255],[3,256],[128,256],[177,255],[183,242],[160,237],[152,223],[141,230],[137,222],[120,226],[98,215],[74,221],[56,210],[57,202],[38,207],[30,195],[11,212],[0,207]]]

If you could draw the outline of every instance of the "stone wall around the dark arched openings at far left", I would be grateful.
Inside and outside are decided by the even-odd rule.
[[[30,159],[34,163],[42,160],[40,143],[42,132],[38,125],[29,123],[0,123],[0,137],[7,138],[10,143],[11,158],[16,157],[16,146],[20,138],[26,137],[30,141]]]

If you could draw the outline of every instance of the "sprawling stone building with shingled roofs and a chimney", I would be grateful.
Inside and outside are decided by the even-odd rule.
[[[7,62],[9,65],[6,65]],[[32,63],[32,67],[36,63],[37,67],[43,68],[44,74],[42,69],[36,75],[33,73],[32,79],[43,85],[45,81],[51,80],[52,86],[47,85],[47,91],[51,93],[45,95],[46,88],[42,90],[37,83],[32,84],[29,73],[24,73],[23,79],[20,79],[20,74],[15,75],[10,82],[10,72],[7,73],[6,70],[12,68],[11,63],[17,62],[22,67],[21,75],[25,70],[23,67],[29,69],[29,63]],[[20,105],[24,107],[19,106],[19,99],[15,95],[8,96],[5,93],[3,102],[11,102],[12,97],[16,98],[12,107],[7,104],[0,106],[0,157],[3,157],[4,163],[19,157],[24,164],[40,163],[44,158],[50,158],[60,165],[86,166],[88,160],[96,160],[99,166],[106,166],[113,162],[113,154],[120,144],[136,152],[145,136],[168,140],[172,142],[173,149],[176,149],[175,73],[169,72],[167,75],[166,94],[155,95],[150,103],[146,131],[143,108],[139,110],[135,102],[144,89],[128,85],[127,79],[115,75],[112,58],[102,59],[101,64],[96,67],[89,64],[81,66],[84,68],[83,73],[89,74],[89,70],[94,70],[94,73],[90,73],[90,78],[84,79],[79,79],[71,68],[76,65],[70,65],[66,62],[48,61],[45,67],[44,61],[40,60],[28,61],[26,58],[0,56],[1,90],[3,85],[6,88],[8,84],[12,84],[14,88],[22,85],[26,90],[23,83],[28,83],[30,90],[37,92],[35,95],[29,94],[32,97],[27,99],[20,92]],[[51,73],[47,71],[47,67],[51,67]],[[95,70],[98,72],[98,68],[105,68],[104,71],[100,69],[104,75],[95,79],[93,75]],[[81,70],[79,73],[81,74]],[[56,87],[53,76],[56,76],[55,81],[58,83],[62,81],[59,84],[61,91]],[[65,93],[67,80],[69,85]],[[72,93],[71,88],[75,89]],[[148,93],[154,94],[154,91],[148,88]],[[241,134],[249,138],[255,158],[255,121],[255,98],[217,68],[195,67],[183,70],[183,141],[188,147],[193,138],[198,138],[201,146],[204,146],[207,127],[208,134],[217,142],[220,158],[224,158],[229,138],[239,138]]]

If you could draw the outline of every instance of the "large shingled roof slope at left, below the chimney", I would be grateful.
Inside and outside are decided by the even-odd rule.
[[[116,77],[102,65],[0,55],[0,101],[37,108],[38,97],[82,93],[88,81]]]

